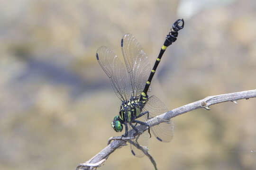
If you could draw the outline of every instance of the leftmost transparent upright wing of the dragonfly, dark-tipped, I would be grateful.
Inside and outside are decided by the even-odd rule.
[[[121,60],[105,46],[97,50],[96,58],[101,68],[110,78],[111,85],[119,99],[121,101],[128,100],[131,90],[128,85],[128,76]]]

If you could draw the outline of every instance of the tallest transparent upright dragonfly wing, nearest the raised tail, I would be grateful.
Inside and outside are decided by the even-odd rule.
[[[132,34],[125,34],[121,40],[121,48],[128,70],[132,95],[143,92],[150,74],[147,55]]]

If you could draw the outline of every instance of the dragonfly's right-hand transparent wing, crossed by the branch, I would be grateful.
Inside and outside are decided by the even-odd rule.
[[[149,118],[155,117],[157,115],[163,114],[167,111],[167,107],[163,102],[161,102],[154,95],[148,98],[146,105],[142,109],[142,112],[148,111]],[[147,119],[147,114],[144,115],[144,118]],[[154,123],[154,122],[150,122]],[[170,142],[173,139],[174,134],[174,123],[172,120],[169,122],[163,122],[154,127],[150,127],[150,131],[153,132],[155,137],[161,142]]]

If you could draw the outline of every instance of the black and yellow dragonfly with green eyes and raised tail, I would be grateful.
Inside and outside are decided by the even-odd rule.
[[[122,102],[119,114],[114,117],[111,126],[116,132],[121,132],[124,125],[125,134],[123,136],[128,136],[130,129],[134,129],[138,133],[138,124],[148,127],[148,133],[142,133],[136,139],[138,144],[145,147],[151,137],[150,131],[161,142],[170,142],[173,138],[174,124],[171,120],[152,127],[150,121],[147,121],[167,111],[162,101],[155,95],[149,97],[147,92],[151,91],[152,78],[165,50],[176,41],[178,31],[183,29],[183,26],[183,19],[174,22],[152,69],[145,51],[132,34],[125,34],[121,39],[121,49],[126,67],[117,55],[106,46],[101,46],[96,52],[96,59],[109,77],[115,94]],[[130,147],[133,155],[144,156],[144,153],[132,144]]]

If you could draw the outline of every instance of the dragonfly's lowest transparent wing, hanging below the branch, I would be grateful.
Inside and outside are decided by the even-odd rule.
[[[128,125],[128,130],[130,130],[131,128],[132,127]],[[140,136],[137,136],[137,138],[132,139],[132,141],[134,143],[141,145],[142,147],[147,148],[149,138],[150,138],[149,133],[144,132]],[[133,144],[130,144],[130,149],[131,149],[131,153],[138,158],[141,158],[145,155],[140,149],[137,149],[137,147],[134,146]]]

